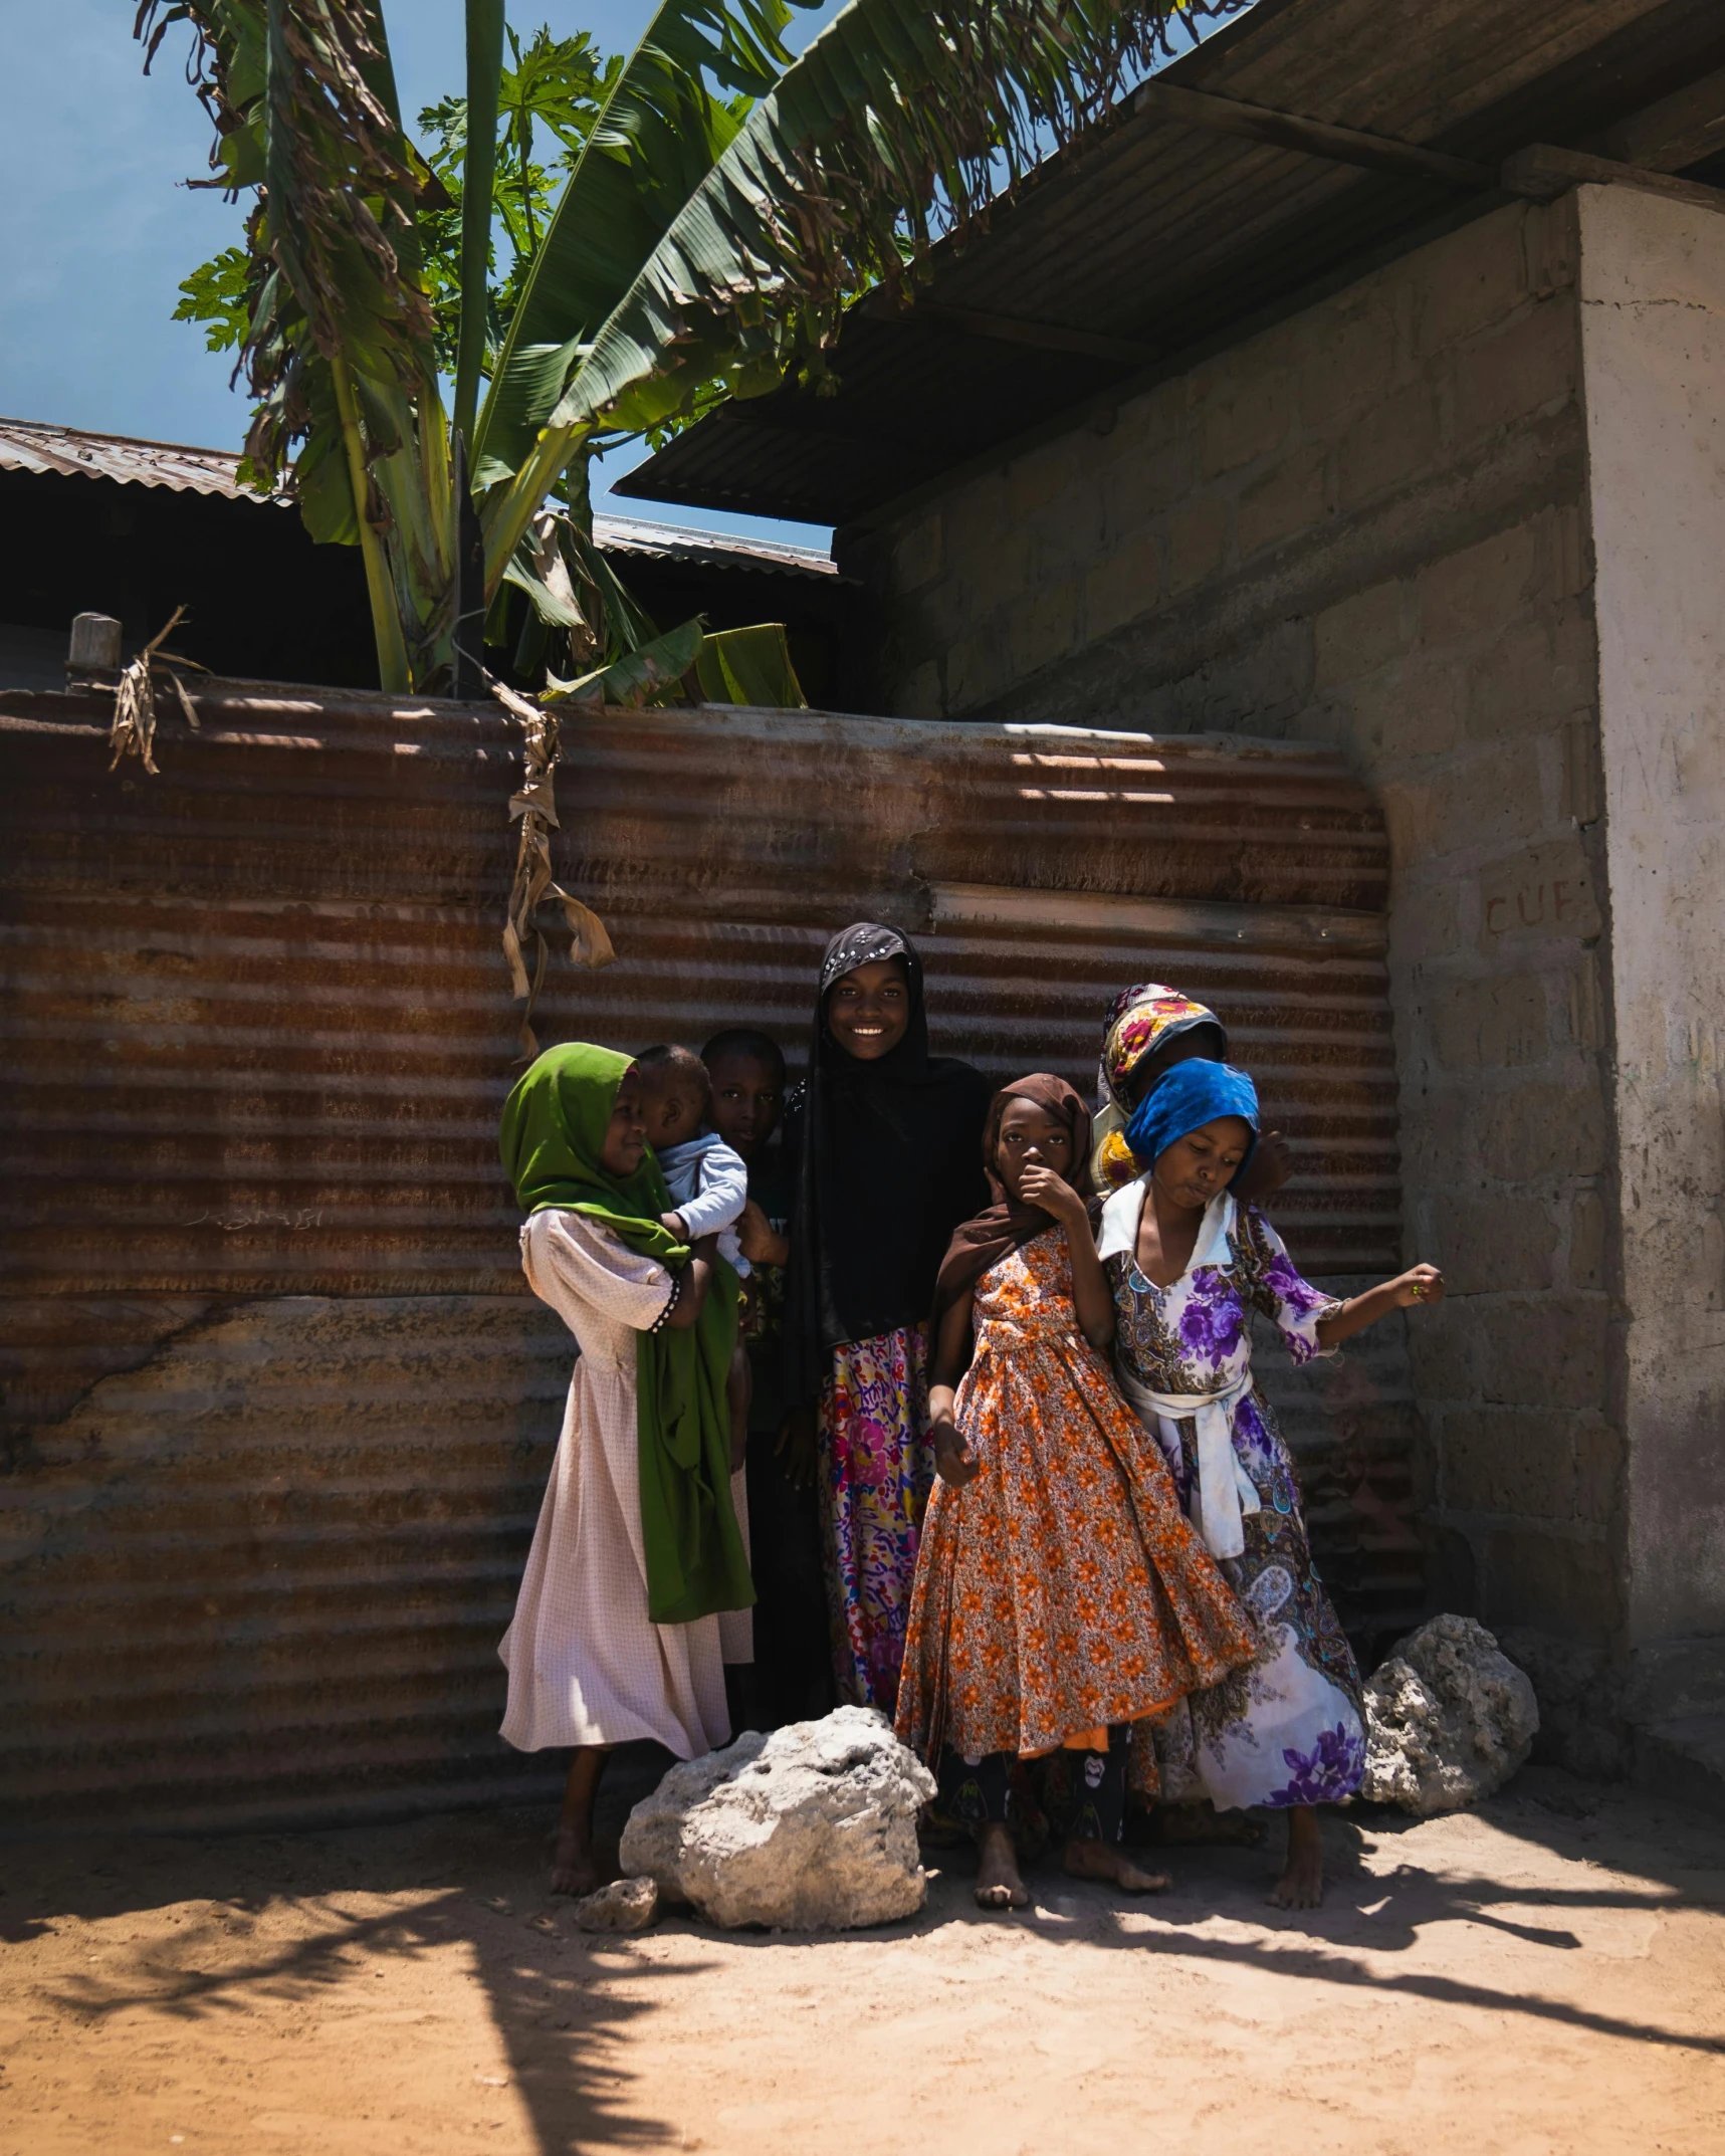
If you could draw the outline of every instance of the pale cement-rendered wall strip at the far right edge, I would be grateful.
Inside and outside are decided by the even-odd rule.
[[[1628,1641],[1725,1660],[1725,216],[1581,190],[1622,1162]]]

